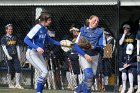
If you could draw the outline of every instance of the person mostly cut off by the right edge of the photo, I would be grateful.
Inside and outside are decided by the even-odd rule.
[[[138,89],[136,93],[140,93],[140,31],[138,31],[136,35],[137,40],[137,81],[138,81]]]

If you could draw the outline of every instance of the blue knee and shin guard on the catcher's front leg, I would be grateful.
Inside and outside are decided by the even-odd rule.
[[[93,71],[92,68],[86,68],[84,69],[84,82],[87,86],[87,88],[91,88],[91,86],[93,85]]]

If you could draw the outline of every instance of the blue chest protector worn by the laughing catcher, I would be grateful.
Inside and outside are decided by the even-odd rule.
[[[103,34],[103,29],[101,28],[95,28],[91,29],[88,27],[84,27],[84,30],[81,31],[81,36],[84,36],[87,38],[87,40],[90,41],[92,46],[98,46],[99,38]]]

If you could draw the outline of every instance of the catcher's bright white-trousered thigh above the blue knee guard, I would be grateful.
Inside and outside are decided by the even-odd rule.
[[[91,68],[91,63],[88,62],[82,55],[79,55],[79,63],[83,70],[86,68]]]

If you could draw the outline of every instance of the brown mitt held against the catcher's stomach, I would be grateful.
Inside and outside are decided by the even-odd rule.
[[[83,36],[79,38],[78,45],[85,50],[92,48],[90,42]]]

